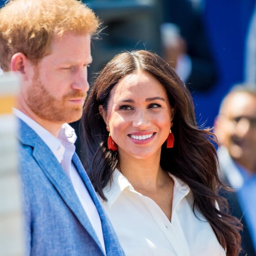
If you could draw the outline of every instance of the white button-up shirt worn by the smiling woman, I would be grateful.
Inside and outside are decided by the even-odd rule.
[[[193,195],[187,184],[174,181],[171,222],[160,207],[136,192],[116,169],[102,202],[127,256],[224,256],[205,218],[193,212]]]

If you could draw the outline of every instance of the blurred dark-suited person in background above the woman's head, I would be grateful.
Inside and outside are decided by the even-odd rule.
[[[192,92],[211,89],[218,77],[197,2],[162,0],[163,57]]]

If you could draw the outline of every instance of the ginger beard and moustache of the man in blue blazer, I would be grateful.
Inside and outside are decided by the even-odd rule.
[[[55,98],[39,78],[35,68],[34,78],[27,90],[27,105],[41,119],[54,123],[72,123],[79,120],[83,112],[83,104],[74,104],[68,100],[72,98],[86,98],[86,92],[72,90],[62,98]]]

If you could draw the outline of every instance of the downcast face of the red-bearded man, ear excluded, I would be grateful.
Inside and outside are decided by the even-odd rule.
[[[90,35],[54,38],[49,54],[30,68],[33,75],[23,90],[24,104],[41,120],[62,124],[79,120],[89,90]]]

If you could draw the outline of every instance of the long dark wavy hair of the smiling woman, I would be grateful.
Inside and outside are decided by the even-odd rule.
[[[216,141],[215,136],[211,129],[197,126],[191,94],[173,68],[154,53],[137,50],[118,54],[105,65],[90,90],[81,133],[85,167],[95,190],[106,200],[102,189],[112,181],[113,170],[119,165],[118,152],[108,150],[109,133],[98,107],[107,109],[113,87],[124,76],[138,70],[148,72],[166,88],[175,110],[172,127],[175,144],[173,148],[166,148],[166,143],[162,145],[162,169],[188,184],[194,196],[194,209],[199,209],[211,224],[227,255],[238,255],[241,224],[229,215],[226,200],[218,196],[218,189],[224,185],[218,177],[218,158],[212,143]]]

